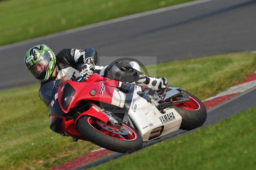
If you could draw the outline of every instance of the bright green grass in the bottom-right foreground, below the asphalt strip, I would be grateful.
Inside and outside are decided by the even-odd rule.
[[[255,169],[256,107],[91,169]]]

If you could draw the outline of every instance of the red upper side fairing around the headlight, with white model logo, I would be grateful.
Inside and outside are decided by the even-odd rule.
[[[69,83],[75,89],[75,94],[73,95],[72,100],[68,105],[68,108],[65,110],[61,105],[61,96],[63,94],[63,89],[67,83]],[[58,89],[58,100],[60,103],[60,107],[63,112],[68,113],[70,108],[75,107],[77,105],[77,102],[79,102],[80,100],[95,100],[111,104],[114,92],[114,88],[112,87],[118,87],[118,84],[119,81],[103,78],[98,74],[92,74],[92,76],[90,76],[88,78],[88,81],[86,82],[75,82],[71,80],[66,80],[63,82],[62,85],[59,86]],[[96,94],[95,96],[92,96],[90,92],[94,89],[96,90]]]

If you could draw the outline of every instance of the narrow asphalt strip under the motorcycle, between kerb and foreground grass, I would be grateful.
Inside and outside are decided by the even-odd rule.
[[[209,124],[214,124],[215,122],[218,122],[219,120],[225,119],[230,115],[237,114],[249,107],[255,107],[256,106],[256,87],[239,94],[235,98],[228,100],[225,103],[222,103],[216,107],[213,107],[212,109],[207,111],[207,119],[203,126],[200,128],[205,128]],[[158,140],[150,141],[148,143],[144,143],[143,147],[155,144],[157,142],[163,141],[164,139],[170,138],[170,137],[179,137],[178,135],[186,135],[187,133],[191,133],[195,131],[196,129],[185,131],[185,130],[177,130],[169,135],[166,135]],[[228,130],[228,129],[226,129]],[[143,149],[142,149],[143,150]],[[140,152],[140,151],[137,151]],[[76,170],[82,170],[87,169],[93,166],[100,165],[102,163],[105,163],[109,160],[116,159],[118,157],[123,156],[123,153],[115,152],[109,156],[106,156],[104,158],[101,158],[99,160],[93,161],[85,166],[82,166],[80,168],[77,168]]]

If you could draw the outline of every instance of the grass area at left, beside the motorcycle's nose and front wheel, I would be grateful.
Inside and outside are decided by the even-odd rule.
[[[99,148],[49,129],[38,85],[0,92],[0,169],[46,169]]]

